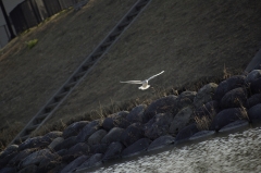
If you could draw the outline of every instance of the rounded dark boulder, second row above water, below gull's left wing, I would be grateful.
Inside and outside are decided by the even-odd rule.
[[[129,146],[144,137],[144,129],[140,123],[134,123],[129,125],[120,136],[120,140],[125,145]]]

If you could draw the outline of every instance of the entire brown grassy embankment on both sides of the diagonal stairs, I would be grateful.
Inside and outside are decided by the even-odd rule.
[[[34,116],[135,2],[92,0],[79,12],[59,14],[1,50],[0,127],[8,132],[14,121],[22,127]],[[152,0],[47,124],[111,102],[142,101],[154,90],[202,77],[222,77],[224,65],[229,74],[243,73],[259,49],[260,9],[259,0]],[[34,38],[39,42],[26,49],[24,41]],[[163,70],[148,90],[120,84]]]

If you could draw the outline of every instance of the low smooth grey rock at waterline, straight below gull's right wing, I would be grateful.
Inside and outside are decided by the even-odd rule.
[[[175,138],[171,135],[164,135],[154,139],[148,147],[148,151],[162,148],[166,145],[173,144]]]

